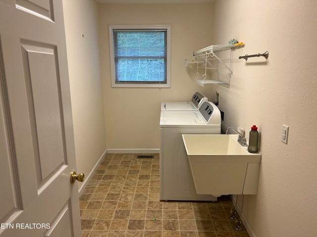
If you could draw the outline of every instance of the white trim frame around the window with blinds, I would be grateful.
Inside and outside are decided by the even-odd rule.
[[[132,88],[170,88],[170,51],[171,51],[171,25],[109,25],[109,53],[110,53],[110,73],[111,73],[111,87],[132,87]],[[146,83],[129,82],[129,83],[116,83],[115,80],[115,62],[114,62],[114,42],[113,30],[156,30],[164,29],[167,33],[166,39],[166,83]]]

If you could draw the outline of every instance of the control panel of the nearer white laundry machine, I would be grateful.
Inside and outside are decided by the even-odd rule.
[[[206,101],[199,108],[199,113],[208,124],[221,124],[221,116],[218,107],[210,101]]]

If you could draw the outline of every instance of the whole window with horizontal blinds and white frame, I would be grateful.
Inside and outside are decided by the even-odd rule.
[[[170,25],[109,25],[111,86],[170,87]]]

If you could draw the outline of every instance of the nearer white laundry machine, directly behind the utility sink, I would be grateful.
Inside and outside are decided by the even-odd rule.
[[[160,112],[160,200],[217,200],[198,195],[182,134],[220,134],[219,109],[209,101],[196,111]]]

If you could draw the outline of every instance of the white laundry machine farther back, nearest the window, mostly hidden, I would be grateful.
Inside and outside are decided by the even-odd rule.
[[[196,92],[191,102],[162,102],[160,105],[161,111],[193,111],[198,110],[199,107],[205,102],[208,101],[208,98]]]

